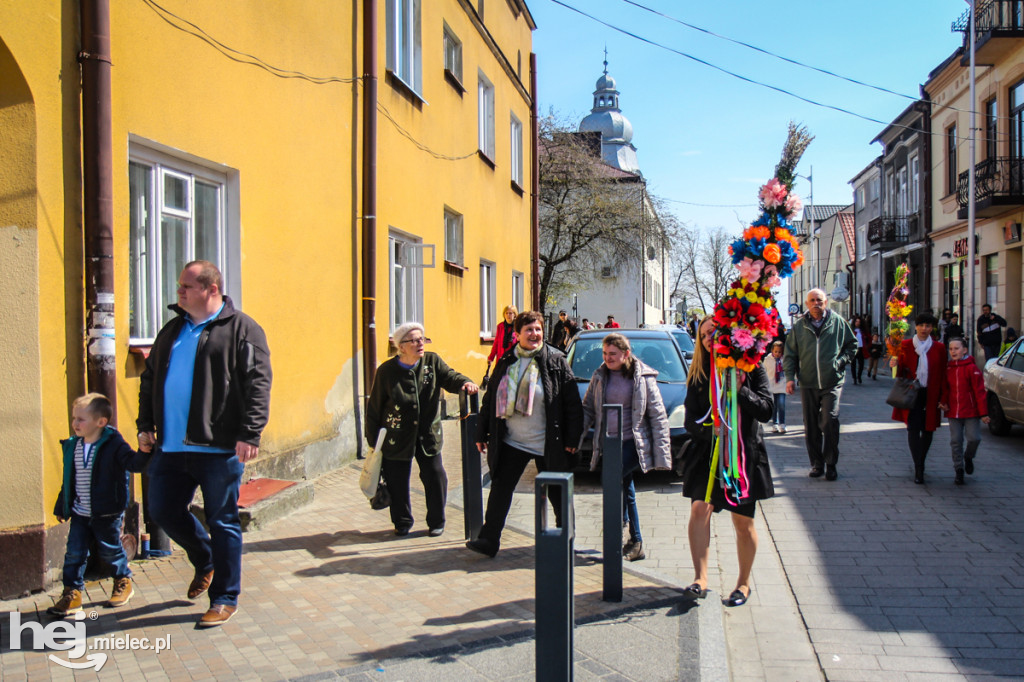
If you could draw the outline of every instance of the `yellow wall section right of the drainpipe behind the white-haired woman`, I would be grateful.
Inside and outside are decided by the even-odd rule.
[[[493,17],[492,7],[495,12],[502,12],[502,26],[512,26],[507,4],[488,5],[485,18]],[[383,19],[383,1],[379,3],[379,11]],[[444,24],[462,41],[463,93],[444,77]],[[379,117],[378,359],[388,355],[387,240],[388,230],[393,227],[422,238],[424,244],[435,245],[436,266],[423,270],[421,322],[432,340],[429,349],[456,370],[479,381],[490,350],[490,344],[481,342],[479,334],[480,260],[496,264],[496,310],[492,313],[495,324],[501,321],[501,309],[512,302],[513,270],[523,274],[524,307],[529,307],[530,104],[484,42],[463,3],[424,2],[421,26],[420,94],[425,101],[412,96],[408,88],[385,75],[387,42],[383,32],[379,41],[379,99],[397,124],[419,142],[440,155],[466,158],[436,159],[414,145],[386,116]],[[506,27],[504,39],[506,43],[500,47],[502,51],[511,51],[513,69],[516,49],[522,52],[523,80],[528,84],[531,39],[525,15],[515,19],[514,29]],[[494,168],[476,154],[479,72],[495,87]],[[523,128],[521,195],[511,186],[510,114],[513,112]],[[464,216],[463,262],[467,269],[461,275],[443,264],[445,206]]]

